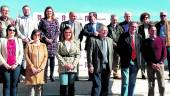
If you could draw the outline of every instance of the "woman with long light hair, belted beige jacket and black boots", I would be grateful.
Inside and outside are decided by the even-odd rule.
[[[73,32],[69,27],[64,28],[62,38],[57,49],[60,96],[74,96],[75,73],[80,59],[80,42],[73,39]]]

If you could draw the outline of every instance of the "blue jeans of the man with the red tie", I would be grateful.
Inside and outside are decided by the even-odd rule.
[[[134,96],[137,73],[137,64],[133,61],[130,62],[129,68],[121,68],[121,96]]]

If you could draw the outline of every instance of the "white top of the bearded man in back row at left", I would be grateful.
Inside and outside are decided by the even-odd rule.
[[[31,33],[34,29],[38,28],[38,21],[33,20],[32,17],[22,16],[16,20],[16,28],[18,31],[18,36],[21,39],[29,38],[31,39]]]

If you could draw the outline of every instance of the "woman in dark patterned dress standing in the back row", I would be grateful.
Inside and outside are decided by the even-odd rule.
[[[44,16],[45,17],[41,19],[38,28],[42,31],[43,42],[47,45],[48,59],[50,61],[50,80],[54,81],[53,73],[55,66],[55,56],[57,51],[57,40],[59,36],[59,24],[54,17],[54,11],[52,7],[46,7]],[[47,79],[47,67],[45,75],[45,78]]]

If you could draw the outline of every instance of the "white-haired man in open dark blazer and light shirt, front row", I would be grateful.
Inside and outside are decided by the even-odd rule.
[[[91,96],[107,96],[113,63],[113,40],[107,37],[108,29],[102,25],[98,37],[88,40],[87,63],[92,74]]]

